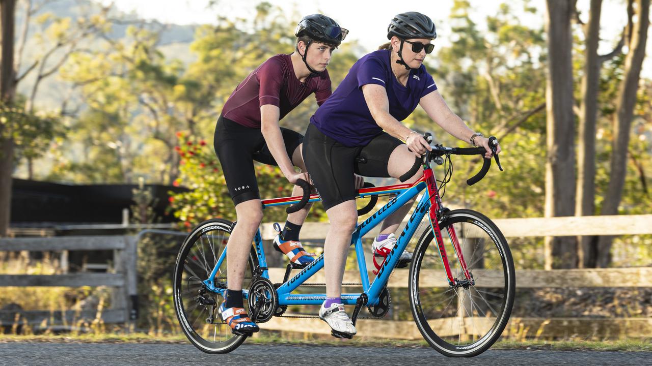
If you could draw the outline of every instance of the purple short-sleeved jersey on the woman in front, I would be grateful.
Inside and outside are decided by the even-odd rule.
[[[392,72],[390,56],[389,50],[381,49],[359,59],[310,122],[342,145],[366,146],[382,131],[364,100],[362,87],[366,84],[385,87],[389,113],[397,120],[406,119],[423,96],[437,90],[437,85],[421,65],[410,70],[408,84],[403,86]]]

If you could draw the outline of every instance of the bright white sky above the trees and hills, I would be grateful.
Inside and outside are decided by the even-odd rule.
[[[214,23],[218,14],[235,17],[246,17],[253,14],[259,0],[220,0],[218,5],[207,8],[209,0],[101,0],[103,3],[115,3],[115,5],[126,12],[136,12],[145,19],[158,20],[164,23],[176,24],[204,24]],[[368,51],[376,49],[379,44],[385,42],[385,32],[389,20],[400,12],[418,11],[422,12],[435,21],[437,26],[436,44],[445,46],[448,44],[447,34],[450,34],[450,27],[447,19],[450,14],[452,0],[413,1],[411,5],[403,5],[400,1],[351,1],[351,0],[267,0],[273,5],[281,7],[291,17],[295,12],[307,15],[321,12],[334,18],[340,26],[349,29],[347,40],[357,40]],[[496,14],[496,10],[503,1],[470,0],[475,9],[471,17],[479,25],[484,27],[484,18],[489,14]],[[520,1],[510,1],[513,7],[520,6]],[[544,1],[531,1],[539,8],[541,16],[526,16],[523,14],[524,22],[533,25],[543,23]],[[578,8],[587,19],[589,0],[578,0]],[[627,22],[627,14],[623,0],[605,0],[602,5],[602,27],[600,36],[600,52],[606,53],[611,50],[621,29]],[[299,19],[297,19],[299,21]],[[652,27],[647,37],[647,57],[644,62],[643,74],[652,78]]]

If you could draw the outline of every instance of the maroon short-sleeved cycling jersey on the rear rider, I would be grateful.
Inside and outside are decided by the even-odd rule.
[[[319,106],[331,95],[328,72],[324,70],[302,83],[294,74],[290,55],[276,55],[235,88],[224,104],[222,115],[243,126],[260,128],[261,106],[277,106],[282,119],[313,92]]]

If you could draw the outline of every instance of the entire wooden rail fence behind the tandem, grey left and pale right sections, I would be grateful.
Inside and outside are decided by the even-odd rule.
[[[496,225],[506,237],[576,236],[576,235],[623,235],[652,234],[652,215],[636,216],[589,216],[568,218],[497,219]],[[303,240],[323,242],[329,224],[305,223]],[[166,232],[169,233],[169,232]],[[265,253],[273,282],[284,274],[286,260],[271,250],[274,237],[271,223],[261,226]],[[372,232],[371,234],[375,234]],[[113,292],[113,309],[102,313],[104,322],[129,322],[137,316],[136,298],[136,245],[135,236],[65,236],[55,238],[0,239],[0,251],[65,251],[65,250],[113,250],[114,273],[56,274],[56,275],[0,275],[3,286],[110,286]],[[367,260],[370,264],[370,259]],[[274,268],[276,267],[276,268]],[[370,277],[373,275],[370,273]],[[422,274],[424,275],[424,274]],[[490,273],[486,274],[490,277]],[[345,282],[358,282],[359,273],[348,271]],[[433,277],[432,281],[446,284]],[[312,277],[311,282],[323,283],[323,272]],[[407,270],[398,269],[392,275],[388,287],[405,288],[408,285]],[[517,289],[563,288],[563,287],[652,287],[652,267],[608,268],[581,270],[517,270]],[[404,305],[408,299],[394,299]],[[96,311],[76,313],[65,311],[22,312],[30,324],[40,324],[45,318],[53,322],[70,323],[73,319],[95,318]],[[0,322],[12,324],[16,311],[0,311]],[[295,331],[310,330],[313,333],[330,333],[328,326],[318,319],[272,318],[261,324],[263,329]],[[398,339],[421,339],[421,334],[410,320],[359,320],[359,334],[368,337],[391,336]],[[542,337],[649,337],[652,335],[652,318],[512,318],[505,330],[508,334],[537,334]]]

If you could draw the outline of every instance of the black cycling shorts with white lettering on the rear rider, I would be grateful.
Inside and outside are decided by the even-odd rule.
[[[291,159],[303,143],[303,135],[281,127],[283,141]],[[267,148],[260,128],[250,128],[220,115],[215,126],[213,146],[222,165],[224,180],[233,204],[260,199],[254,160],[267,165],[278,165]]]

